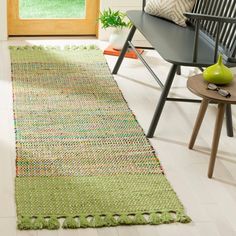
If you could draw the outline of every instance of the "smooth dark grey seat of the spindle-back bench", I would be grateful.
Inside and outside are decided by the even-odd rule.
[[[206,67],[214,63],[214,47],[199,36],[198,59],[193,62],[195,31],[171,21],[151,16],[141,10],[127,11],[127,16],[166,61],[182,66]],[[168,29],[168,30],[166,30]],[[228,64],[224,61],[225,64]]]

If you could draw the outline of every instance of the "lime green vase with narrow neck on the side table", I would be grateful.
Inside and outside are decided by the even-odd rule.
[[[219,55],[217,63],[204,70],[203,78],[213,84],[229,84],[234,77],[231,70],[223,64],[222,55]]]

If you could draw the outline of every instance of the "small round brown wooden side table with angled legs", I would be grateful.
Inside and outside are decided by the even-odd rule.
[[[199,112],[198,112],[198,116],[194,125],[193,133],[189,142],[189,149],[193,148],[193,145],[197,138],[197,134],[201,127],[209,102],[211,101],[218,104],[218,112],[217,112],[215,130],[214,130],[213,141],[212,141],[211,157],[210,157],[210,163],[208,167],[208,177],[212,178],[226,105],[236,104],[236,76],[234,77],[234,81],[232,83],[228,85],[224,85],[224,86],[223,85],[218,86],[219,88],[230,92],[231,97],[229,98],[221,96],[217,91],[212,91],[212,90],[207,89],[207,86],[208,86],[208,83],[207,81],[203,79],[202,74],[192,76],[187,81],[188,89],[194,94],[196,94],[197,96],[200,96],[203,98]]]

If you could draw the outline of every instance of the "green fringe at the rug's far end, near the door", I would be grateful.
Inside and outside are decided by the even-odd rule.
[[[64,47],[59,46],[9,46],[10,50],[17,51],[42,51],[42,50],[56,50],[56,51],[78,51],[78,50],[99,50],[97,45],[66,45]]]

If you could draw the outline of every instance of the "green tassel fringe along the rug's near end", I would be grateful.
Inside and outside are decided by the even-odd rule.
[[[66,216],[66,217],[19,217],[17,227],[20,230],[40,230],[49,229],[56,230],[61,227],[60,218],[64,218],[62,228],[64,229],[77,229],[77,228],[98,228],[98,227],[111,227],[117,225],[159,225],[169,224],[174,222],[189,223],[191,219],[183,212],[163,211],[152,213],[136,214],[107,214],[107,215],[80,215],[80,216]]]

